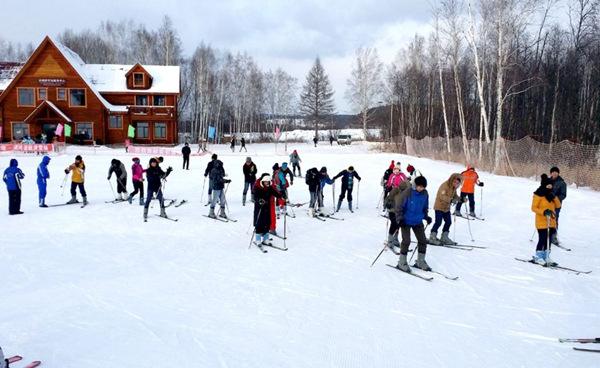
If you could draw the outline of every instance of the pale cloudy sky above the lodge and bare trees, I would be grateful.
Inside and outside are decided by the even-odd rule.
[[[219,49],[246,51],[264,70],[278,67],[301,86],[321,57],[340,113],[354,112],[344,98],[354,52],[376,47],[390,63],[415,33],[430,30],[427,1],[6,1],[0,37],[35,45],[65,28],[95,29],[102,20],[133,19],[156,28],[164,15],[175,23],[186,55],[202,41]]]

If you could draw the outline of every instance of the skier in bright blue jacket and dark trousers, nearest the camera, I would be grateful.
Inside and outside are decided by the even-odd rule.
[[[429,208],[429,194],[427,193],[427,179],[424,176],[415,178],[414,187],[408,187],[400,195],[396,207],[396,221],[400,224],[402,233],[402,243],[400,244],[400,259],[398,268],[405,272],[411,272],[406,261],[408,255],[408,246],[410,245],[410,230],[417,237],[417,247],[419,254],[417,262],[413,267],[424,271],[431,271],[431,267],[425,262],[425,253],[427,251],[427,237],[425,237],[425,228],[423,220],[427,224],[431,223],[431,217],[427,214]]]

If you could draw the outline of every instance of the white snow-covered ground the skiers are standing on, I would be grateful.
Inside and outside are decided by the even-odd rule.
[[[514,260],[533,253],[530,205],[538,183],[481,173],[486,220],[471,227],[474,244],[488,248],[429,247],[429,264],[460,279],[426,282],[386,267],[397,261],[391,252],[369,267],[385,237],[375,208],[380,176],[392,159],[413,164],[427,176],[433,203],[440,183],[462,167],[375,153],[368,145],[290,144],[303,171],[325,165],[335,174],[354,165],[363,177],[359,209],[350,214],[344,204],[345,221],[326,222],[296,209],[287,223],[289,251],[262,254],[248,249],[252,207],[241,205],[241,167],[250,155],[259,172],[270,172],[286,160],[284,145],[278,152],[272,144],[249,145],[248,154],[210,148],[233,179],[228,199],[237,223],[201,216],[208,213],[201,189],[209,156],[193,157],[190,171],[180,169],[181,158],[165,158],[163,166],[176,169],[166,196],[189,203],[167,209],[179,222],[153,216],[148,223],[139,205],[105,204],[112,199],[110,160],[129,168],[132,155],[70,147],[52,159],[49,204],[68,199],[68,189],[61,196],[62,170],[83,155],[90,200],[84,209],[38,208],[41,157],[18,157],[27,175],[25,214],[6,215],[7,196],[0,196],[6,354],[41,359],[49,368],[600,366],[597,354],[557,342],[598,335],[600,193],[569,188],[561,213],[561,239],[573,251],[557,249],[553,258],[593,270],[575,275]],[[2,169],[9,158],[0,156]],[[326,194],[331,206],[330,187]],[[308,201],[303,179],[290,197]],[[470,243],[465,220],[454,232]]]

